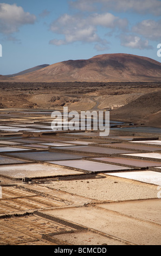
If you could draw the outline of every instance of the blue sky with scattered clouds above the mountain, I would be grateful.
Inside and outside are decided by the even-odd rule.
[[[0,3],[1,75],[107,53],[136,54],[161,62],[158,44],[161,0]]]

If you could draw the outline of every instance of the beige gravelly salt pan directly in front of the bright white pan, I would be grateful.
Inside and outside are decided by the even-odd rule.
[[[102,179],[53,181],[43,186],[101,201],[157,198],[158,193],[155,185],[112,176]]]

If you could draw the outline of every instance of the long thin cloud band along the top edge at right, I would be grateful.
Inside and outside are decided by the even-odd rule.
[[[77,0],[70,1],[70,6],[81,11],[93,11],[96,4],[101,4],[102,9],[118,12],[134,11],[139,14],[151,13],[161,15],[161,2],[159,0]],[[98,5],[97,5],[98,8]]]

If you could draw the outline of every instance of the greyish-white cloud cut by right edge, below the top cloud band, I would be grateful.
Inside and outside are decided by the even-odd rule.
[[[161,20],[154,21],[154,20],[144,20],[138,23],[136,26],[132,28],[134,33],[138,33],[140,35],[145,36],[150,40],[157,41],[161,39]]]

